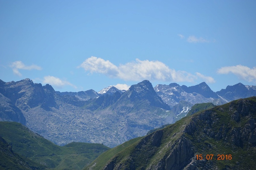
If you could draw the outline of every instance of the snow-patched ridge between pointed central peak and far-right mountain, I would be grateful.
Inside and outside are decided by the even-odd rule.
[[[213,92],[205,82],[190,87],[180,86],[177,83],[158,84],[154,89],[157,95],[171,108],[170,112],[164,115],[169,123],[174,123],[185,117],[194,104],[211,102],[220,105],[228,102]]]

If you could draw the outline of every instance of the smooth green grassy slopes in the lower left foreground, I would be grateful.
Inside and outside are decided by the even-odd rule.
[[[58,146],[16,122],[0,122],[0,135],[6,155],[0,158],[0,169],[82,169],[109,149],[95,143]]]

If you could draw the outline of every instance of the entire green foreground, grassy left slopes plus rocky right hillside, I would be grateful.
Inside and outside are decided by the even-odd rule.
[[[58,146],[20,123],[0,122],[0,169],[231,170],[256,166],[256,97],[219,106],[196,104],[192,109],[191,115],[174,124],[112,149],[95,143]]]

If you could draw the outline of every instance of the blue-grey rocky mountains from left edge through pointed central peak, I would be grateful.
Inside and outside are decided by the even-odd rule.
[[[167,123],[160,113],[169,106],[149,81],[111,95],[90,90],[96,94],[93,96],[88,91],[55,92],[51,85],[42,86],[30,79],[2,81],[0,85],[4,100],[10,98],[20,109],[28,128],[59,145],[75,141],[114,147]]]

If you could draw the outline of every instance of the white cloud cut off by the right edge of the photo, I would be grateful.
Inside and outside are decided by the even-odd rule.
[[[220,73],[220,74],[233,73],[243,80],[246,80],[249,82],[256,81],[256,67],[249,68],[247,66],[242,66],[242,65],[226,66],[218,69],[217,73]]]

